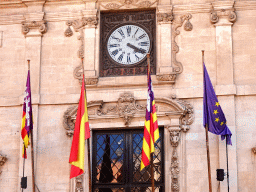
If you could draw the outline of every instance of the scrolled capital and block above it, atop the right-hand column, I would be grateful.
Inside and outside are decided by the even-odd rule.
[[[219,3],[219,2],[218,2]],[[234,1],[229,1],[226,4],[223,3],[213,3],[210,12],[210,21],[213,24],[219,22],[220,19],[229,21],[231,24],[236,22],[236,12],[234,8]],[[225,22],[226,23],[226,22]]]

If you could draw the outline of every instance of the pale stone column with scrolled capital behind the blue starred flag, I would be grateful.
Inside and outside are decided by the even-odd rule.
[[[237,152],[235,127],[235,94],[233,78],[232,25],[236,21],[234,1],[213,2],[210,19],[216,28],[217,85],[216,94],[226,115],[227,125],[232,132],[232,146],[228,147],[230,191],[237,189]],[[226,143],[219,141],[219,168],[227,170]],[[212,170],[215,178],[216,170]],[[220,182],[220,191],[227,191],[227,179]]]

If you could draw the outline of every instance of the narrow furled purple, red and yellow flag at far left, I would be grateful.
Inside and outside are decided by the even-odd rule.
[[[28,70],[26,90],[23,104],[23,114],[21,123],[21,137],[23,139],[22,157],[27,158],[26,148],[29,145],[29,133],[33,129],[31,89],[30,89],[30,70]]]

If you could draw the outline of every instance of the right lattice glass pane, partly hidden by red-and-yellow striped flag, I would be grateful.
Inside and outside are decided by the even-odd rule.
[[[150,182],[151,181],[151,166],[145,167],[140,171],[141,163],[141,150],[143,142],[143,133],[134,133],[133,139],[133,182]],[[154,159],[154,179],[155,181],[161,181],[161,134],[160,139],[155,143]]]

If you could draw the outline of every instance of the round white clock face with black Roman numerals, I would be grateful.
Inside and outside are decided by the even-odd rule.
[[[119,64],[130,65],[142,61],[150,49],[148,33],[137,25],[123,25],[108,38],[107,50]]]

